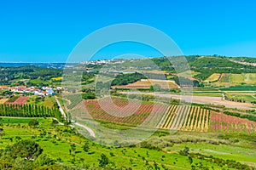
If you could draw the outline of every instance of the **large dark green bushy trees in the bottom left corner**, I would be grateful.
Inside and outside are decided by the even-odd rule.
[[[44,154],[41,146],[33,140],[20,140],[0,151],[0,169],[79,169],[78,167],[57,164]]]

